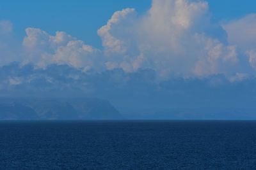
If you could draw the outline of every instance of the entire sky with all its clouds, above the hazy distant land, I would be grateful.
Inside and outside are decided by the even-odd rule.
[[[255,1],[3,1],[0,91],[252,108]]]

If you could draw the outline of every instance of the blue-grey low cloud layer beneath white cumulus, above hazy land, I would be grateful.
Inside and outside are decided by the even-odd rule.
[[[157,80],[152,69],[84,72],[68,65],[12,63],[0,67],[0,97],[99,97],[124,107],[243,107],[255,105],[255,78],[236,74]],[[125,97],[124,97],[125,96]]]

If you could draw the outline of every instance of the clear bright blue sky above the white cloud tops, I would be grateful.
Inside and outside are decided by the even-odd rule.
[[[208,0],[213,17],[227,22],[256,13],[254,0]],[[139,15],[145,13],[150,0],[93,0],[93,1],[1,1],[1,19],[11,20],[14,34],[22,40],[27,27],[40,28],[50,34],[65,31],[87,44],[102,48],[97,29],[106,24],[115,11],[135,8]]]

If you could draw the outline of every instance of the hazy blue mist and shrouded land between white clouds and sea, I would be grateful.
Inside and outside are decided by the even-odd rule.
[[[1,118],[256,118],[255,78],[231,82],[218,74],[159,81],[152,69],[85,73],[67,65],[53,64],[40,69],[18,62],[0,67],[0,73]],[[3,116],[8,113],[6,110],[10,114],[19,112],[20,116]],[[25,116],[27,111],[31,117]]]

